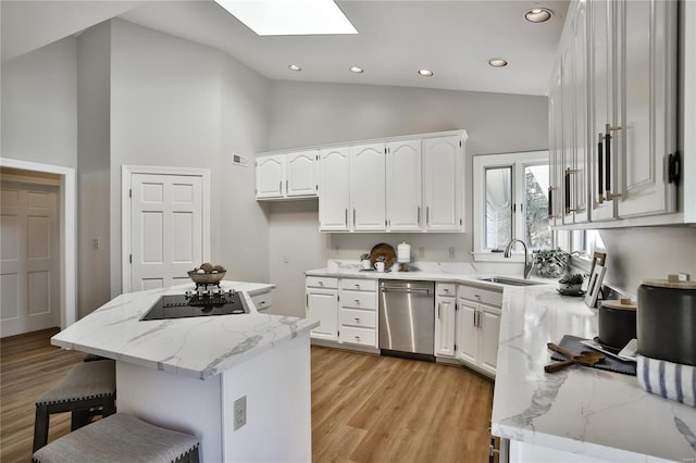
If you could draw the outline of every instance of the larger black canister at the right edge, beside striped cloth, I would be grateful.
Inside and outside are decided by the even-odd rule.
[[[643,281],[637,322],[639,354],[696,366],[695,281]]]

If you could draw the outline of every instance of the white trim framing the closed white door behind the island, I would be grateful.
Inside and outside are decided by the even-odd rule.
[[[210,170],[194,167],[163,167],[148,165],[121,166],[121,285],[122,292],[130,292],[130,195],[132,176],[149,175],[187,175],[200,177],[202,183],[202,227],[203,262],[210,261]]]

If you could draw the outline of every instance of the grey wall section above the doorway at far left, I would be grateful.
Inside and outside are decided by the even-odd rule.
[[[76,48],[67,37],[2,63],[2,157],[75,167]]]

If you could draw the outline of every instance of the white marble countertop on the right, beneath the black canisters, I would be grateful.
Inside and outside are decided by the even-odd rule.
[[[596,336],[596,312],[548,287],[506,287],[493,434],[607,461],[696,461],[696,409],[646,392],[635,376],[544,372],[546,343]]]

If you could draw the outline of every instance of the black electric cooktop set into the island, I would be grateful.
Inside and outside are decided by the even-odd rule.
[[[249,313],[238,292],[162,296],[140,321]]]

